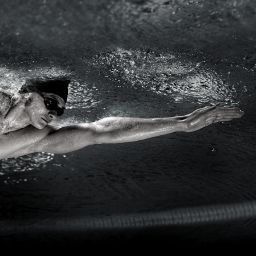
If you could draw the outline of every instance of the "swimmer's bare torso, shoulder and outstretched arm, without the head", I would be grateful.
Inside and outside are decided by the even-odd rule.
[[[6,113],[10,109],[11,96],[11,93],[0,90],[0,159],[34,152],[63,154],[87,145],[133,142],[176,131],[192,132],[215,122],[230,121],[244,115],[239,108],[220,108],[219,104],[215,104],[185,116],[153,119],[107,117],[62,128],[46,124],[38,129],[28,125],[9,131]]]

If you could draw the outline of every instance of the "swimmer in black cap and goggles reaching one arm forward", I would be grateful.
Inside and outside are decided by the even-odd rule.
[[[67,153],[87,145],[145,140],[175,131],[197,131],[244,115],[219,104],[168,118],[106,117],[65,127],[49,125],[61,116],[69,80],[27,81],[18,93],[0,89],[0,159],[34,152]]]

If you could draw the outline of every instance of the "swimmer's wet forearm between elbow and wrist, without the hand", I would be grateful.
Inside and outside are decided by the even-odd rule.
[[[95,122],[95,125],[95,137],[99,144],[145,140],[185,129],[182,116],[153,119],[107,117]]]

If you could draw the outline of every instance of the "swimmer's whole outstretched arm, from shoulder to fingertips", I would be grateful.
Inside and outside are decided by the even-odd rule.
[[[145,140],[175,131],[192,132],[214,122],[240,118],[243,114],[239,108],[220,108],[216,104],[185,116],[154,119],[107,117],[93,123],[55,129],[34,145],[32,151],[67,153],[87,145]]]

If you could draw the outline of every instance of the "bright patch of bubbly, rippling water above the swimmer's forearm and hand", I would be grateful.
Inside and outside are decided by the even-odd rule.
[[[175,102],[221,102],[235,106],[236,89],[225,84],[204,61],[183,60],[175,53],[151,49],[115,49],[95,58],[95,65],[105,67],[105,76],[172,98]]]

